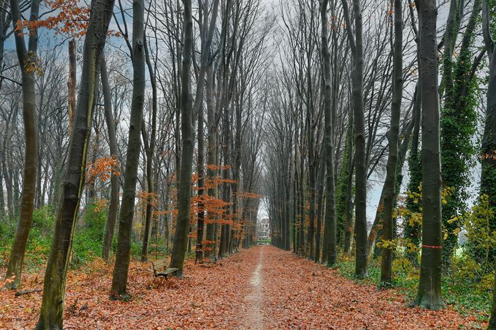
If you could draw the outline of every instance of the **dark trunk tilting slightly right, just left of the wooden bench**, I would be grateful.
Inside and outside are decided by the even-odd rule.
[[[145,102],[145,50],[143,17],[145,3],[133,0],[133,91],[130,114],[130,129],[127,140],[127,154],[124,177],[124,192],[119,214],[116,261],[112,274],[111,299],[125,299],[127,294],[127,274],[129,272],[134,199],[141,153],[141,125],[143,124],[143,103]]]

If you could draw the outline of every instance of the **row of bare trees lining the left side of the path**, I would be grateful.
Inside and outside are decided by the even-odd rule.
[[[66,17],[52,14],[71,5],[78,9]],[[264,75],[267,36],[275,23],[262,2],[21,6],[11,1],[3,19],[12,27],[2,25],[19,56],[6,51],[1,75],[0,216],[18,223],[6,275],[14,289],[21,285],[33,210],[56,207],[37,329],[63,327],[72,242],[85,226],[81,206],[83,213],[94,205],[107,210],[101,243],[103,259],[112,262],[116,241],[112,299],[130,298],[133,242],[141,243],[142,261],[150,240],[165,245],[165,253],[172,245],[169,268],[176,276],[183,276],[192,245],[202,262],[253,244],[264,136],[258,128],[271,85]],[[30,19],[23,20],[26,11]],[[71,25],[77,15],[87,23]],[[54,51],[37,52],[39,30]],[[74,36],[84,37],[83,47],[72,40],[65,56],[61,49]]]

